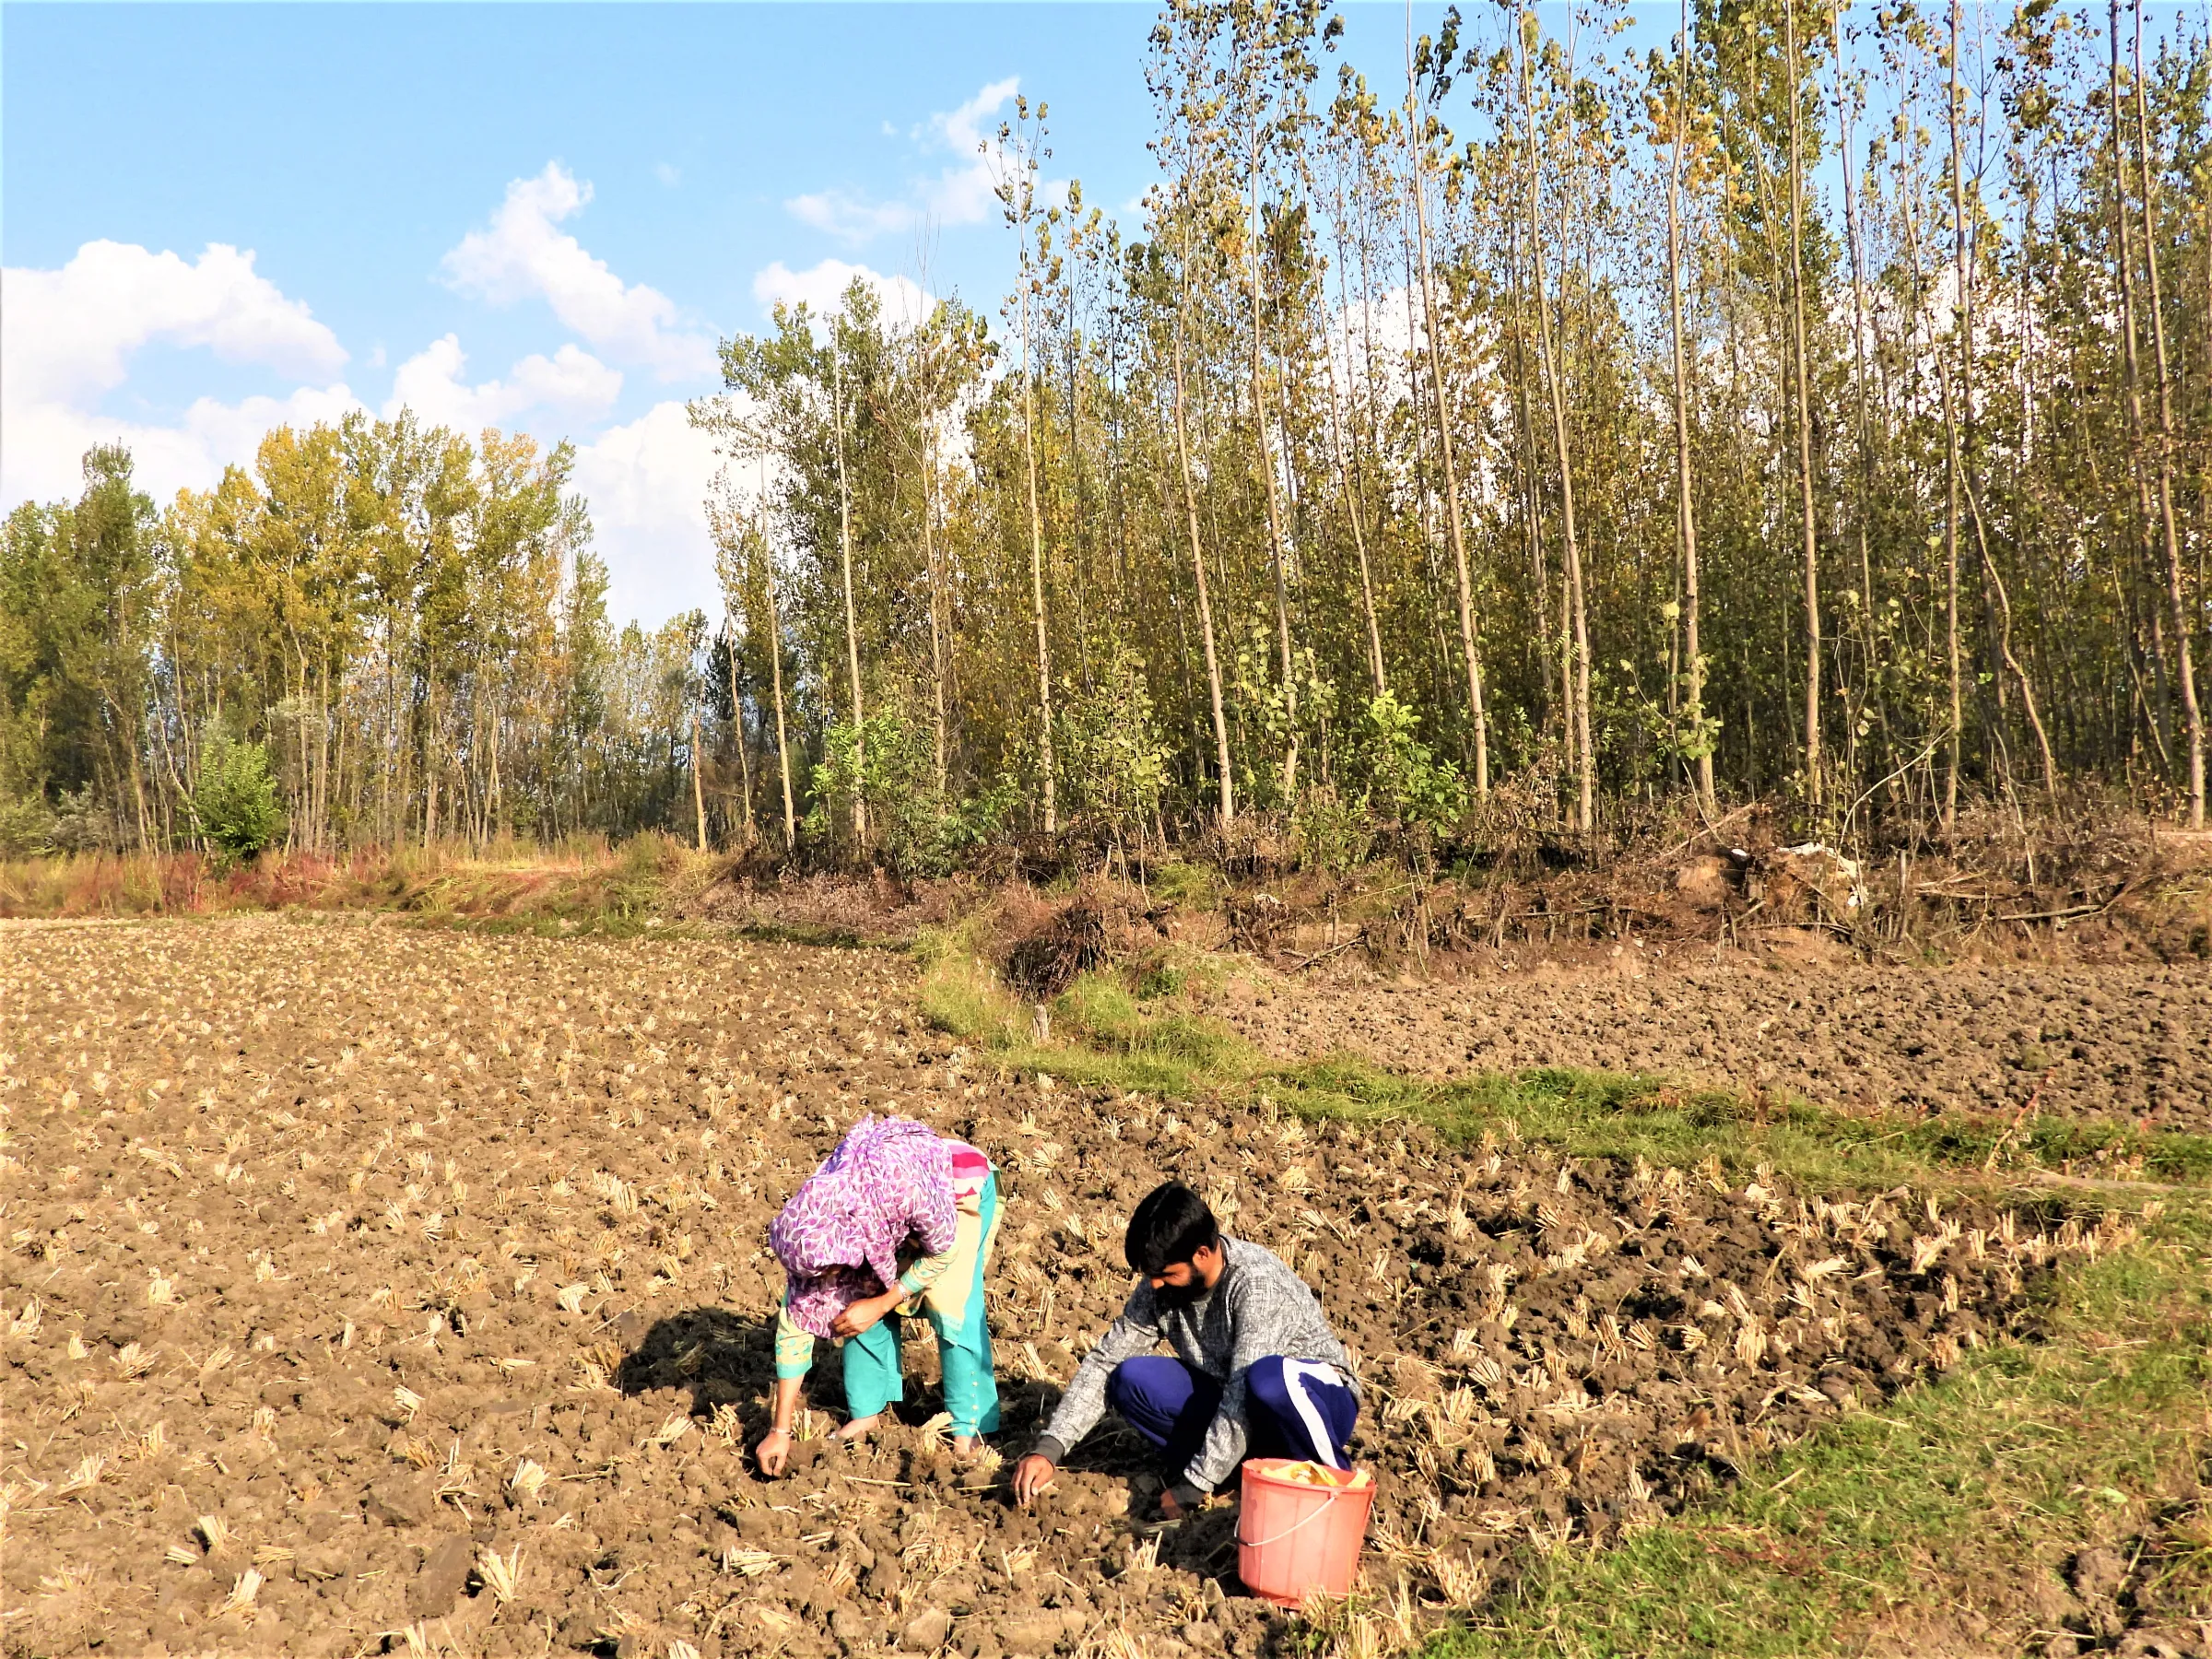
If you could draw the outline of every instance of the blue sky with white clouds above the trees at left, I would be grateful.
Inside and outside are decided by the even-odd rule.
[[[1433,27],[1436,7],[1416,20]],[[1385,91],[1398,4],[1347,9]],[[1672,15],[1672,13],[1670,13]],[[157,498],[281,420],[409,403],[577,442],[619,617],[714,606],[684,400],[776,294],[852,268],[995,312],[975,139],[1150,181],[1155,9],[4,4],[0,509],[133,445]]]

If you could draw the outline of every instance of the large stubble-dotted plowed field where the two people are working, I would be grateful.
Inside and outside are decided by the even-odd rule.
[[[2119,1237],[1006,1077],[885,953],[272,918],[0,951],[9,1655],[1261,1652],[1285,1615],[1239,1590],[1232,1504],[1141,1526],[1117,1431],[1015,1511],[938,1440],[925,1332],[898,1427],[830,1442],[821,1365],[796,1471],[752,1473],[765,1225],[865,1113],[1002,1168],[1009,1453],[1155,1181],[1290,1259],[1365,1380],[1402,1635],[1517,1540],[1610,1537],[1953,1363]]]

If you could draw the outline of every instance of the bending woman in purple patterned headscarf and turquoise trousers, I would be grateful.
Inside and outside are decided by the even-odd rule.
[[[772,1425],[757,1455],[781,1475],[792,1455],[799,1385],[816,1338],[845,1343],[841,1440],[876,1427],[907,1394],[894,1314],[929,1316],[945,1365],[953,1449],[998,1429],[998,1378],[984,1327],[982,1272],[998,1232],[998,1175],[967,1141],[905,1117],[863,1117],[768,1228],[785,1272],[776,1314]]]

